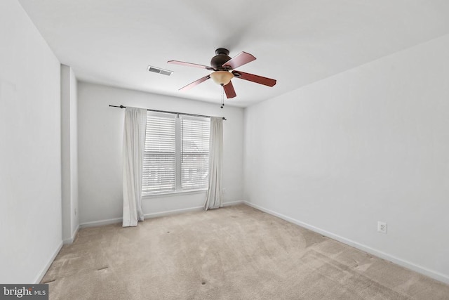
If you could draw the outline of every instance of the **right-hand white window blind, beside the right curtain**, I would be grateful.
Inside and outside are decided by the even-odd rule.
[[[181,119],[181,188],[208,187],[210,119]]]

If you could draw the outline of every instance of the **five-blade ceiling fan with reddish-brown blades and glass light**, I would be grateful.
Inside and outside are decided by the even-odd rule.
[[[217,50],[215,50],[215,56],[212,60],[210,60],[210,67],[207,65],[198,65],[196,63],[185,63],[179,60],[168,60],[167,63],[174,65],[187,65],[189,67],[200,67],[201,69],[214,71],[205,77],[193,81],[191,84],[187,84],[187,86],[183,86],[180,91],[192,89],[194,86],[201,84],[201,82],[212,78],[217,84],[223,86],[227,98],[234,98],[236,96],[236,91],[234,90],[234,86],[232,86],[231,82],[231,79],[234,77],[253,81],[256,84],[263,84],[265,86],[274,86],[274,84],[276,84],[275,79],[234,70],[236,67],[241,67],[242,65],[250,63],[256,59],[250,53],[241,52],[233,58],[230,58],[228,55],[229,50],[225,48],[217,48]]]

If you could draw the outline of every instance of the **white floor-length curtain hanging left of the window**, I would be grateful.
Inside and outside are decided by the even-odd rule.
[[[143,221],[142,164],[147,110],[126,107],[123,129],[123,227]]]

